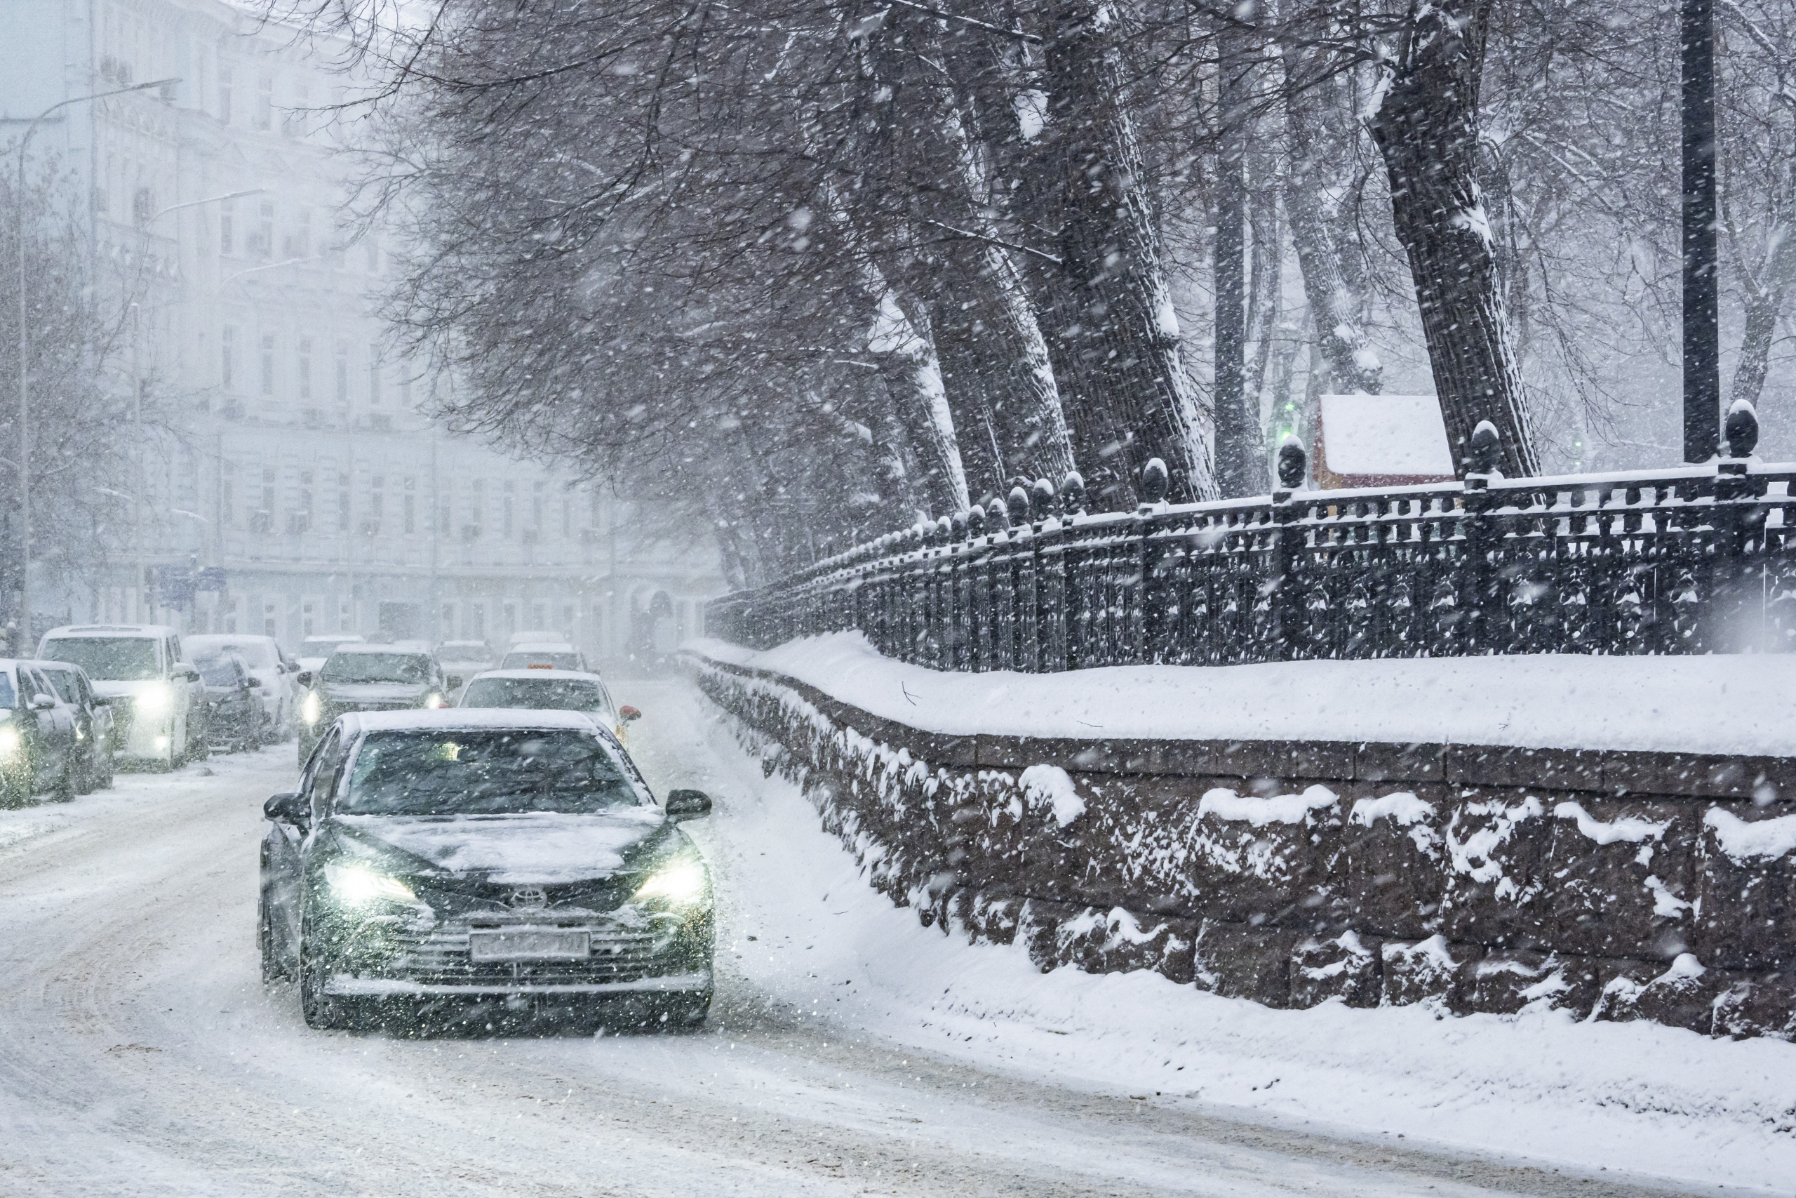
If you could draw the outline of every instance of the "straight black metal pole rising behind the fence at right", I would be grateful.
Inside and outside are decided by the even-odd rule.
[[[1685,462],[1721,447],[1715,316],[1715,5],[1681,0]]]

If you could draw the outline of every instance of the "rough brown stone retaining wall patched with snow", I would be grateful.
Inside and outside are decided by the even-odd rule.
[[[682,659],[876,889],[1043,970],[1796,1038],[1796,760],[941,736]]]

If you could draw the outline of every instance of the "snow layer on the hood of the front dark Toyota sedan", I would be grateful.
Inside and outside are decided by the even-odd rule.
[[[602,815],[338,815],[361,841],[381,841],[451,873],[487,873],[489,882],[542,884],[603,878],[657,833],[654,806]]]

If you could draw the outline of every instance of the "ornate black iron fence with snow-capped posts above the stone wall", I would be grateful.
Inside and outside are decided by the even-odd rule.
[[[1069,474],[1008,505],[889,533],[715,600],[715,636],[769,648],[860,629],[941,670],[1473,654],[1787,652],[1796,643],[1796,463],[1507,480],[1478,427],[1464,481],[1171,507],[1148,465],[1135,512],[1088,515]]]

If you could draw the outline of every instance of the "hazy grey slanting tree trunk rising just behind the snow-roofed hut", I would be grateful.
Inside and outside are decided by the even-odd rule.
[[[1297,271],[1304,278],[1304,302],[1315,327],[1316,347],[1327,363],[1324,386],[1338,393],[1378,395],[1383,365],[1372,352],[1358,322],[1358,304],[1349,295],[1340,248],[1329,237],[1322,216],[1322,167],[1315,122],[1315,81],[1311,59],[1286,47],[1284,128],[1291,162],[1284,174],[1284,216],[1297,250]]]

